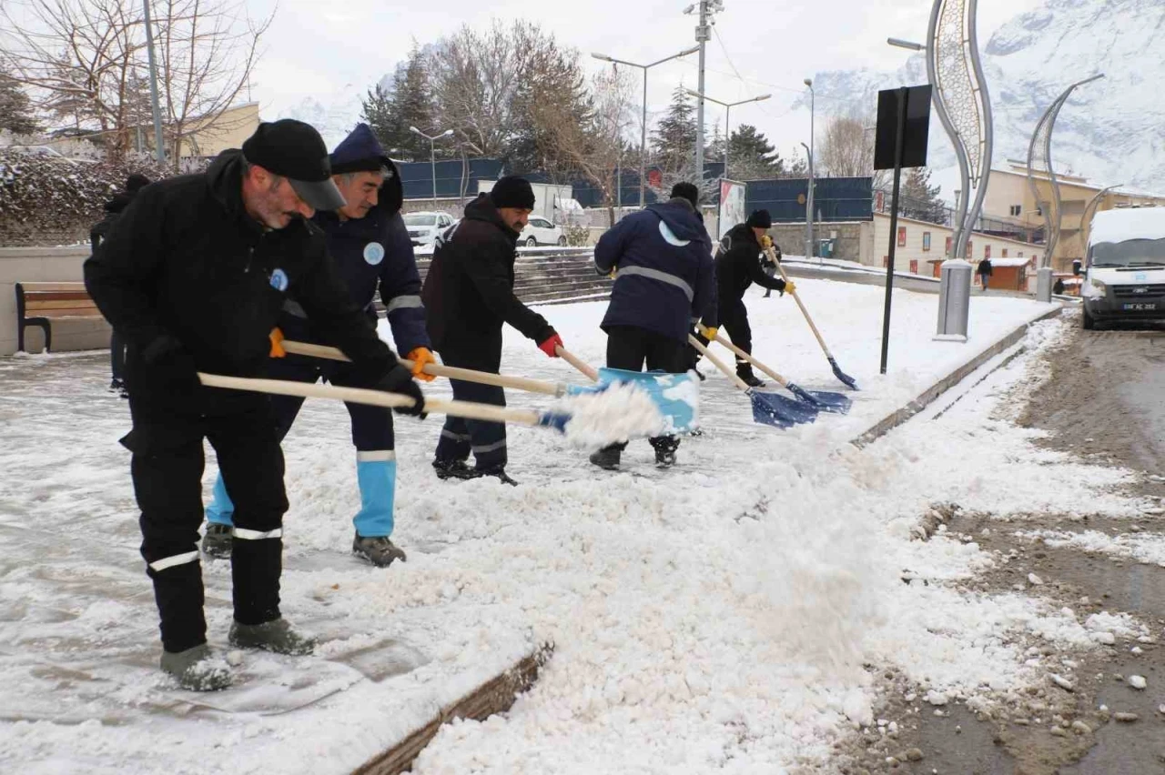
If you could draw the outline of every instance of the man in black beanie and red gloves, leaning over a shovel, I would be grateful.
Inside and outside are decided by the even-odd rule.
[[[534,189],[504,177],[489,193],[465,207],[465,218],[437,240],[422,296],[429,336],[446,365],[492,371],[501,369],[502,323],[509,323],[558,357],[562,337],[546,319],[514,296],[514,258],[518,234],[534,211]],[[453,398],[506,406],[506,392],[493,385],[452,379]],[[466,462],[473,453],[475,467]],[[446,418],[437,443],[437,476],[469,479],[506,475],[506,425]]]

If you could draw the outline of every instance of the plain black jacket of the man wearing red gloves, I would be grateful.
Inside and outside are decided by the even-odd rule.
[[[514,296],[517,236],[481,194],[438,240],[422,291],[435,349],[500,351],[503,322],[535,342],[553,335],[546,319]]]

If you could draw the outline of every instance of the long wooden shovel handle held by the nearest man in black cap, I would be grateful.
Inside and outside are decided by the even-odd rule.
[[[288,350],[290,351],[290,350]],[[287,379],[254,379],[250,377],[227,377],[217,374],[198,372],[198,379],[209,388],[228,388],[232,390],[249,390],[257,393],[275,396],[299,396],[301,398],[331,398],[334,400],[400,408],[412,406],[414,399],[401,393],[386,393],[380,390],[363,388],[340,388],[338,385],[319,385],[308,382]],[[493,404],[475,404],[473,401],[425,400],[425,412],[433,414],[451,414],[469,420],[487,422],[514,422],[517,425],[538,425],[541,418],[532,410],[511,410]]]

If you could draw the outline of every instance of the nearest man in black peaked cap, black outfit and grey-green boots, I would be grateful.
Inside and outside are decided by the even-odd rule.
[[[204,388],[197,372],[264,376],[269,334],[290,298],[320,341],[352,360],[353,384],[408,394],[408,412],[423,412],[412,375],[352,301],[323,235],[305,220],[343,206],[319,133],[292,120],[262,123],[241,151],[224,151],[205,173],[146,189],[85,262],[90,294],[128,342],[133,429],[122,443],[133,453],[162,669],[186,689],[231,682],[206,645],[203,613],[204,439],[235,504],[231,644],[281,654],[315,647],[280,616],[288,502],[270,403]]]

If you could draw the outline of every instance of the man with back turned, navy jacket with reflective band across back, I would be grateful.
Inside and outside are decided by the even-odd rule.
[[[599,272],[615,277],[602,319],[609,368],[687,370],[692,325],[716,304],[712,240],[698,215],[699,195],[694,184],[678,183],[669,201],[628,215],[594,247]],[[651,446],[656,465],[676,462],[678,438],[655,438]],[[591,462],[614,470],[626,447],[603,447]]]

